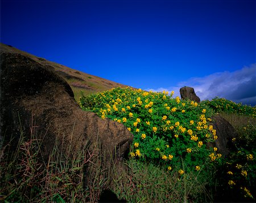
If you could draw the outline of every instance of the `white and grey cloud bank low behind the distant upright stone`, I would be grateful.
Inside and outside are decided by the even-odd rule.
[[[193,87],[201,100],[210,100],[218,96],[237,103],[256,105],[256,64],[245,66],[234,72],[225,71],[201,78],[190,78],[173,87],[160,87],[155,90],[148,88],[147,90],[174,90],[174,96],[179,96],[179,90],[184,86]]]

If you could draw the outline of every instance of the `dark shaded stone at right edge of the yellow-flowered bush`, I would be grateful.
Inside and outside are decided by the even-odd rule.
[[[214,143],[209,143],[208,146],[218,148],[218,153],[226,156],[234,149],[232,138],[237,137],[236,129],[220,115],[212,117],[213,129],[216,129],[216,136],[218,139]]]

